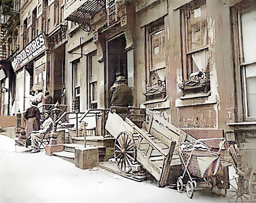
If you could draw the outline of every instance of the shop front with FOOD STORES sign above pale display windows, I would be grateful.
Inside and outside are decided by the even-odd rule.
[[[45,36],[41,33],[13,58],[12,67],[16,73],[15,114],[18,111],[24,112],[31,106],[29,102],[31,91],[35,91],[35,94],[45,92],[45,50]],[[42,112],[42,102],[38,104],[40,112]]]

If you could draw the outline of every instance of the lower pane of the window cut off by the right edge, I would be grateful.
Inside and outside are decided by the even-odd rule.
[[[248,116],[256,117],[256,64],[247,66],[245,72]]]

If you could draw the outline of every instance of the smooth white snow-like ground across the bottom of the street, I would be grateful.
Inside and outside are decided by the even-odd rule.
[[[61,158],[15,153],[13,139],[0,135],[0,203],[183,203],[225,202],[196,191],[138,183],[109,171],[82,170]]]

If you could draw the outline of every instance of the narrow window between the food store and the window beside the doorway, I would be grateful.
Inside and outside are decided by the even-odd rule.
[[[80,78],[81,78],[81,66],[80,61],[74,61],[73,67],[73,111],[80,111]]]

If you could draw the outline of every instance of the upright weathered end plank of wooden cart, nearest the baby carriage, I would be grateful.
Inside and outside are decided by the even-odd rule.
[[[170,169],[170,162],[172,160],[172,155],[175,149],[176,143],[172,142],[171,146],[170,146],[170,150],[168,155],[166,156],[164,162],[163,162],[163,169],[162,169],[162,173],[161,173],[161,177],[159,180],[159,187],[165,187],[167,184],[167,178],[168,178],[168,174],[169,174],[169,169]]]

